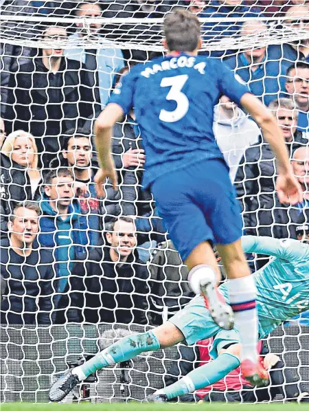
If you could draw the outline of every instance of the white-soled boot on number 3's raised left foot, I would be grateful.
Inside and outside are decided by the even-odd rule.
[[[233,310],[229,304],[219,300],[214,282],[209,281],[205,285],[202,285],[201,291],[203,296],[207,298],[209,313],[214,322],[222,329],[231,330],[234,326]]]

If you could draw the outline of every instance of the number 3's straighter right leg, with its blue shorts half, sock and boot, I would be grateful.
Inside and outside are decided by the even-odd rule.
[[[214,232],[214,241],[230,279],[229,299],[235,315],[235,324],[242,340],[242,366],[253,384],[264,385],[267,373],[258,362],[258,313],[255,308],[256,288],[253,276],[242,251],[242,219],[235,189],[222,162],[209,162],[212,173],[207,188],[211,198],[201,192],[198,201],[203,204],[205,218]]]

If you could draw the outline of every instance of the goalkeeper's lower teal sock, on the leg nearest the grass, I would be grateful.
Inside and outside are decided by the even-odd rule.
[[[156,391],[155,394],[165,394],[168,399],[172,399],[194,392],[220,381],[239,365],[240,361],[235,355],[220,354],[214,361],[196,368],[174,384]]]

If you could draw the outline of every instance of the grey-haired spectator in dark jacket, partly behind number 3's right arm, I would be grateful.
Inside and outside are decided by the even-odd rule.
[[[296,148],[308,144],[308,140],[302,138],[301,133],[296,129],[297,109],[293,102],[286,98],[274,100],[268,107],[282,127],[291,157]],[[272,207],[276,175],[275,157],[268,144],[262,141],[259,145],[247,148],[235,179],[237,197],[244,210],[245,229],[255,227],[253,221],[255,221],[256,210],[264,208],[266,203],[268,207]]]

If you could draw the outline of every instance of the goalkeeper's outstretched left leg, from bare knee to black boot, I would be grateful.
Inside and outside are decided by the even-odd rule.
[[[146,351],[157,351],[178,344],[184,340],[183,333],[171,322],[146,333],[123,337],[103,351],[100,351],[81,366],[62,375],[49,390],[50,401],[61,401],[80,381],[101,368],[117,362],[124,362]]]

